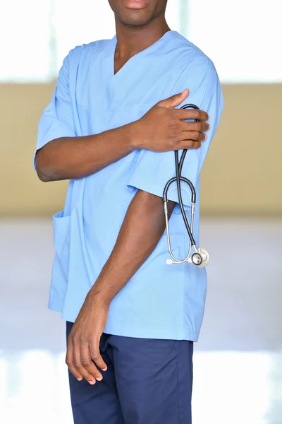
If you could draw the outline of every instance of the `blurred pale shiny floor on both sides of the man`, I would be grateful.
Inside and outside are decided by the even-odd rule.
[[[209,293],[194,424],[282,424],[282,220],[202,220]],[[0,423],[71,424],[50,220],[0,220]]]

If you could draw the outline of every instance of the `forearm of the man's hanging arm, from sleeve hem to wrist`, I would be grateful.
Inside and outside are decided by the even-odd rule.
[[[171,216],[175,204],[168,202]],[[116,245],[90,295],[110,303],[157,246],[166,228],[159,196],[139,190],[131,202]]]

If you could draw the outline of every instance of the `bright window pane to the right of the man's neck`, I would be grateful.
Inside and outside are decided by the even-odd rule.
[[[188,0],[187,36],[223,83],[282,82],[281,0]]]

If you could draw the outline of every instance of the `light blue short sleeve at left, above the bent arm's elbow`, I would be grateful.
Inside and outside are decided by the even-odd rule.
[[[63,61],[51,102],[40,118],[36,152],[51,140],[75,136],[69,89],[70,54]]]

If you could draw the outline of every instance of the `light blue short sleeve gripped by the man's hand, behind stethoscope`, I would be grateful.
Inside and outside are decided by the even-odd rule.
[[[201,148],[189,150],[183,164],[182,175],[190,179],[194,186],[197,186],[200,170],[209,150],[210,143],[214,137],[221,112],[223,110],[223,95],[221,85],[212,61],[204,57],[204,60],[195,59],[194,63],[181,73],[173,92],[181,93],[185,88],[190,90],[188,98],[183,105],[192,103],[200,107],[209,114],[209,124],[211,129],[207,131],[207,140],[202,143]],[[181,107],[180,105],[179,107]],[[179,151],[179,158],[182,151]],[[174,152],[152,152],[141,150],[138,156],[135,169],[128,181],[128,187],[135,191],[144,190],[163,196],[164,186],[168,179],[176,176]],[[172,187],[168,194],[168,199],[178,203],[176,185]],[[190,206],[190,190],[183,190],[183,204]]]

